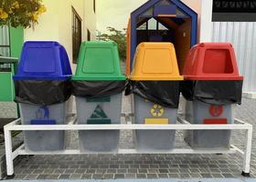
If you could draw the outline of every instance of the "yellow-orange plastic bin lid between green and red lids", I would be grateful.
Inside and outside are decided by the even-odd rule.
[[[176,50],[171,43],[141,43],[137,46],[131,80],[183,80]]]

